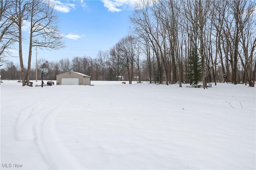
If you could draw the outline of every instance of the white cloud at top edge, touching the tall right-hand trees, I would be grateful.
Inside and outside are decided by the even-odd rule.
[[[102,0],[104,7],[110,12],[120,12],[124,9],[134,8],[136,0]]]

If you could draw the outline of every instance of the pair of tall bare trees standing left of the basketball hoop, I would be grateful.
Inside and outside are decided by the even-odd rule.
[[[44,0],[11,0],[11,7],[7,15],[14,23],[17,30],[19,43],[20,67],[22,73],[22,86],[29,84],[32,47],[39,46],[46,49],[58,49],[63,47],[61,41],[63,35],[58,31],[58,18],[54,14],[54,6],[50,1]],[[22,57],[22,25],[24,21],[30,23],[28,68],[25,74]],[[13,40],[13,39],[12,39]]]

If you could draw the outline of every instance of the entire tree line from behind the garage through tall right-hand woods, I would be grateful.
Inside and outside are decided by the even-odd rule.
[[[204,88],[207,82],[242,82],[253,87],[255,15],[256,2],[250,0],[138,0],[130,16],[132,34],[99,51],[95,59],[49,62],[48,76],[54,80],[56,74],[73,70],[92,80],[124,77],[129,83],[136,79],[180,87],[182,82],[202,82]],[[1,75],[8,69],[14,70],[1,69]],[[33,69],[27,76],[34,78]]]

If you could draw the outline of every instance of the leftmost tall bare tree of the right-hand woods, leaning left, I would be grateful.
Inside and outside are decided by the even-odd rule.
[[[167,64],[164,63],[164,56],[166,56],[164,48],[166,49],[166,47],[162,48],[162,43],[165,43],[165,41],[162,37],[158,36],[161,33],[161,28],[156,20],[156,16],[158,16],[158,11],[156,9],[157,2],[153,0],[140,0],[136,2],[135,6],[136,10],[134,14],[130,17],[130,20],[134,25],[134,29],[138,37],[143,37],[143,39],[149,42],[150,45],[148,47],[151,47],[152,51],[154,52],[152,54],[153,60],[154,58],[156,59],[157,66],[155,67],[153,62],[153,68],[157,68],[154,70],[157,70],[156,76],[158,77],[155,77],[155,80],[158,79],[158,82],[160,84],[163,83],[162,67],[164,65],[165,78],[168,84]],[[154,13],[154,15],[152,13]],[[162,31],[164,31],[164,29],[162,29]]]

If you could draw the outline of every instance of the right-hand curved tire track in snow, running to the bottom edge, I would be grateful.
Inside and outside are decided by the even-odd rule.
[[[58,107],[58,104],[48,107],[47,114],[40,119],[34,128],[34,133],[38,139],[36,144],[52,169],[84,169],[70,154],[68,148],[58,142],[54,125],[54,117]]]

